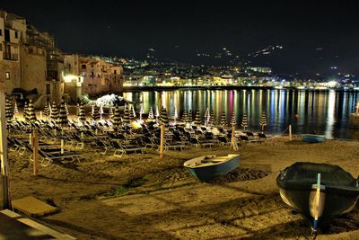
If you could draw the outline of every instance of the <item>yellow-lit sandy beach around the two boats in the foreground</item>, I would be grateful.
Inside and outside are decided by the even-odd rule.
[[[13,200],[34,196],[59,208],[38,218],[78,239],[308,239],[311,227],[287,207],[276,187],[295,162],[338,164],[359,174],[359,142],[268,139],[242,144],[240,167],[214,182],[198,182],[182,166],[193,157],[225,156],[229,147],[101,155],[84,147],[77,168],[50,164],[32,176],[29,153],[9,153]],[[359,239],[359,208],[332,219],[317,239]]]

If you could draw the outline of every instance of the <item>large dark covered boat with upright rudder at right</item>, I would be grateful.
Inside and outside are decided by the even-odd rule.
[[[276,185],[314,231],[319,221],[354,209],[359,199],[359,179],[332,164],[295,163],[279,173]]]

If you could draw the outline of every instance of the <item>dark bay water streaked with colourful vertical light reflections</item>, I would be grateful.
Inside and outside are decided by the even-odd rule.
[[[258,131],[261,112],[267,115],[269,133],[283,132],[289,124],[293,132],[324,134],[327,138],[357,138],[348,128],[349,114],[355,111],[357,92],[315,92],[295,90],[174,90],[127,92],[124,97],[133,102],[143,102],[144,112],[150,107],[165,107],[169,117],[174,106],[179,116],[184,109],[192,110],[193,117],[199,109],[202,116],[206,109],[215,111],[220,121],[226,112],[228,123],[234,112],[237,127],[241,128],[243,113],[248,115],[249,129]],[[137,105],[137,111],[139,106]],[[296,118],[295,116],[298,116]]]

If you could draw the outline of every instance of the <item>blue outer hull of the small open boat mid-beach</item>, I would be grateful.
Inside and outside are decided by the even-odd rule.
[[[207,182],[236,169],[240,164],[240,156],[235,156],[223,164],[213,164],[201,167],[187,167],[188,172],[201,182]]]

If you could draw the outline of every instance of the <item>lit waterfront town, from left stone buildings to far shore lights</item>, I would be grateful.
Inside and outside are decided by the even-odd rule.
[[[25,18],[0,11],[0,76],[8,94],[32,94],[39,104],[77,102],[83,94],[121,93],[141,87],[268,87],[359,89],[355,76],[301,79],[282,76],[271,67],[193,66],[162,62],[148,49],[145,59],[83,56],[57,49],[50,33]]]

